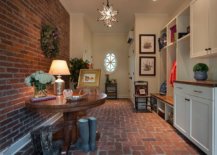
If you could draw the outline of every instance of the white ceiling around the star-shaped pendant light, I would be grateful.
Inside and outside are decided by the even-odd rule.
[[[111,28],[98,22],[103,2],[106,0],[60,0],[69,13],[83,13],[92,32],[95,33],[123,33],[133,28],[135,13],[162,13],[173,14],[183,3],[190,0],[109,0],[114,10],[118,10],[118,23]]]

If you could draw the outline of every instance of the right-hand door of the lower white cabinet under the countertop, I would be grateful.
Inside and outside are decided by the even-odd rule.
[[[191,97],[190,139],[209,154],[212,134],[212,101]]]

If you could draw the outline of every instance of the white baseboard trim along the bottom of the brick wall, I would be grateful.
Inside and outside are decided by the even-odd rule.
[[[38,125],[34,129],[37,129],[41,126],[52,125],[61,117],[62,117],[62,114],[58,113],[58,114],[52,116],[51,118],[49,118],[48,120],[46,120],[45,122],[43,122],[42,124]],[[26,146],[30,141],[31,141],[30,132],[28,132],[25,136],[23,136],[18,141],[11,144],[9,147],[7,147],[2,152],[0,152],[0,155],[14,155],[19,150],[21,150],[24,146]]]

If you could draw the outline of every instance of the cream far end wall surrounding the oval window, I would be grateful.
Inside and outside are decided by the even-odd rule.
[[[129,97],[128,80],[128,44],[127,34],[94,34],[93,35],[93,64],[94,68],[101,69],[100,89],[105,90],[104,58],[107,52],[114,52],[117,58],[117,69],[110,74],[110,79],[116,79],[118,97]]]

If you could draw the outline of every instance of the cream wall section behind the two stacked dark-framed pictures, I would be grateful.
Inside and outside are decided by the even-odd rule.
[[[135,80],[148,81],[149,93],[159,91],[160,53],[157,38],[166,21],[168,16],[164,14],[135,14]],[[156,54],[139,54],[139,34],[156,35]],[[139,76],[139,56],[156,56],[156,76]]]

